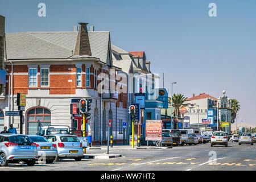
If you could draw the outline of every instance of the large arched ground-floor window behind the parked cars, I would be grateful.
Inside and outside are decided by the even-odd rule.
[[[27,134],[35,135],[40,127],[51,125],[51,111],[36,107],[27,112]]]

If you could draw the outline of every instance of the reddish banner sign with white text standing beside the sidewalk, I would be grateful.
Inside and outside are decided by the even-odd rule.
[[[146,140],[162,140],[162,120],[146,120]]]

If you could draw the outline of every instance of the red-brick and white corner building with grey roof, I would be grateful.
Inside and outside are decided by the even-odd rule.
[[[127,115],[118,115],[119,111],[127,113],[127,101],[119,103],[127,97],[121,93],[118,96],[122,98],[117,97],[116,73],[121,68],[112,64],[110,32],[88,31],[87,23],[79,24],[79,31],[73,32],[6,34],[6,99],[0,100],[0,109],[18,110],[16,94],[26,93],[24,134],[37,133],[39,121],[42,126],[68,125],[80,130],[82,117],[72,118],[70,104],[91,98],[89,134],[93,144],[104,144],[109,119],[113,121],[110,133],[118,142],[123,138],[116,132],[120,119],[127,122]],[[19,117],[5,117],[4,121],[7,126],[14,123],[19,132]]]

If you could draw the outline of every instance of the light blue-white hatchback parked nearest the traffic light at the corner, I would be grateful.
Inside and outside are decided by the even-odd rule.
[[[61,158],[73,158],[76,161],[82,160],[84,155],[82,143],[75,135],[55,134],[44,137],[52,144],[56,144],[58,152],[56,161]]]

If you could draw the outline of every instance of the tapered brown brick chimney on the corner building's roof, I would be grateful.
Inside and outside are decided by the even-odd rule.
[[[92,52],[90,51],[90,42],[87,31],[88,23],[79,23],[79,34],[77,36],[76,41],[76,49],[74,55],[88,55],[92,56]]]

